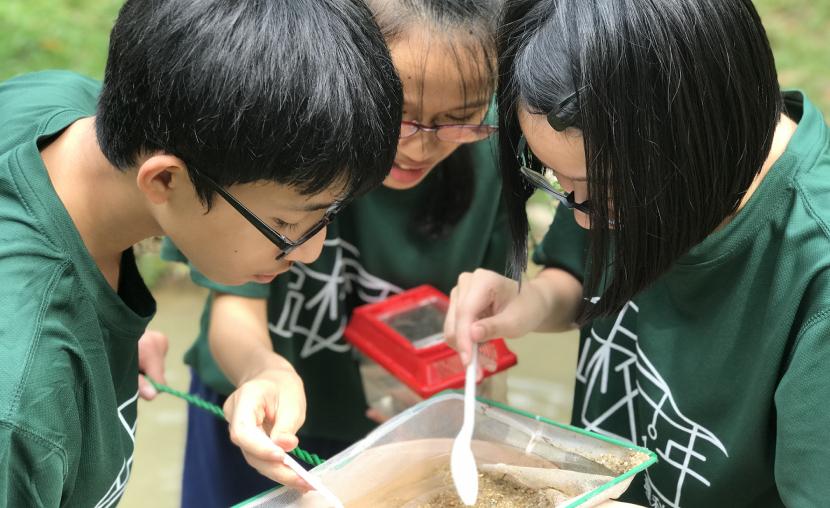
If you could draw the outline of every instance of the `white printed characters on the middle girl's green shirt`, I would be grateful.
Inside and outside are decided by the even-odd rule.
[[[354,245],[336,238],[326,240],[323,248],[335,249],[331,273],[294,263],[282,312],[276,323],[268,324],[271,333],[280,337],[304,338],[300,352],[302,358],[327,349],[343,353],[351,348],[342,340],[348,316],[338,315],[338,305],[347,295],[357,293],[362,302],[373,303],[401,292],[398,286],[367,272],[358,262],[360,251]],[[309,294],[308,284],[319,285],[317,293]],[[314,318],[307,327],[299,319],[301,312],[313,312]],[[335,320],[339,321],[337,329],[325,337],[321,336],[323,323]]]

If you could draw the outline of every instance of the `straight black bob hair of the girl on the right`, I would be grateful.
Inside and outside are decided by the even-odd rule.
[[[511,0],[503,23],[515,272],[530,194],[516,107],[547,115],[564,102],[557,118],[582,136],[594,209],[586,294],[601,295],[581,320],[617,312],[734,213],[761,170],[782,111],[764,28],[750,0]]]

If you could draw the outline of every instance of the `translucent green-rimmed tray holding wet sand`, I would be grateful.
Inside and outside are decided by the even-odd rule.
[[[440,483],[436,483],[436,471],[449,464],[462,408],[463,397],[454,392],[420,402],[313,472],[347,508],[420,506]],[[594,506],[619,497],[635,474],[657,460],[645,448],[482,399],[476,408],[473,440],[480,470],[531,471],[544,482],[560,483],[571,475],[565,478],[570,482],[567,488],[561,489],[564,495],[549,504],[557,508]],[[571,481],[574,477],[578,481]],[[326,504],[313,492],[301,495],[280,488],[237,506],[316,508]]]

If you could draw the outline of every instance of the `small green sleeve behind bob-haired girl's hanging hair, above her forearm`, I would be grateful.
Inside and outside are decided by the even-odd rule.
[[[583,282],[588,253],[587,233],[574,220],[572,210],[557,207],[553,223],[533,251],[533,262],[546,268],[560,268]]]

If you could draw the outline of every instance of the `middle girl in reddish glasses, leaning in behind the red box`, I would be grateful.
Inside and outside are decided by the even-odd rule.
[[[185,357],[191,392],[233,413],[242,400],[226,400],[234,386],[270,376],[243,389],[278,399],[277,414],[265,416],[272,434],[299,427],[300,446],[326,458],[377,425],[343,338],[352,310],[421,284],[448,293],[462,272],[507,266],[489,107],[500,0],[368,4],[404,86],[398,151],[383,186],[339,212],[317,261],[295,263],[270,284],[220,286],[192,272],[212,292]],[[289,239],[302,233],[290,224],[275,229]],[[263,374],[265,359],[282,367]],[[247,466],[231,439],[227,423],[189,410],[183,506],[228,506],[274,486],[266,463],[259,471]]]

